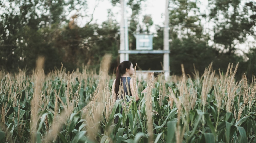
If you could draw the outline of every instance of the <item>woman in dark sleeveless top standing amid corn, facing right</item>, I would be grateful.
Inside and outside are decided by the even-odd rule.
[[[140,99],[138,97],[138,91],[135,89],[136,91],[134,92],[133,80],[130,77],[133,74],[134,74],[134,68],[133,68],[132,62],[123,61],[118,65],[118,67],[116,68],[116,79],[114,80],[112,85],[112,89],[114,88],[112,95],[116,95],[114,97],[115,99],[119,99],[120,96],[123,99],[123,96],[126,96],[126,95],[135,96],[136,101]],[[122,93],[125,93],[125,95],[122,95],[122,93],[120,93],[121,95],[118,95],[120,82],[123,85],[124,92]],[[137,88],[137,84],[135,85],[135,88]]]

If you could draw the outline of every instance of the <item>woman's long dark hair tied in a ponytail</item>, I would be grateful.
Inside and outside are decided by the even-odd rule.
[[[116,68],[116,79],[115,79],[115,93],[118,94],[121,75],[125,74],[126,69],[130,69],[132,62],[123,61]]]

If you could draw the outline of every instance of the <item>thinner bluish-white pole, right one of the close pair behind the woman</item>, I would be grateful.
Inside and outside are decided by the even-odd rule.
[[[124,0],[124,41],[125,41],[125,50],[128,51],[129,50],[129,45],[128,45],[128,25],[127,25],[127,15],[126,15],[127,11],[126,11],[126,0]],[[128,61],[129,60],[129,54],[126,53],[125,54],[125,60]]]

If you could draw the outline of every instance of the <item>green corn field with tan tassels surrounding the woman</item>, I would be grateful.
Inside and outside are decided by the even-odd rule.
[[[104,66],[45,75],[38,63],[29,76],[0,71],[0,142],[256,142],[256,78],[236,81],[238,64],[226,72],[210,64],[201,77],[137,79],[136,102],[113,100],[115,77]]]

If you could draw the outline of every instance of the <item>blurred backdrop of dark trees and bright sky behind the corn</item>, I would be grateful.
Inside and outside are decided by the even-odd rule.
[[[163,50],[165,1],[127,0],[129,49],[136,31],[153,34],[153,50]],[[154,7],[155,6],[155,7]],[[112,55],[109,73],[119,64],[119,0],[0,0],[0,66],[15,73],[35,68],[45,57],[45,73],[83,66],[99,71],[102,57]],[[236,64],[241,79],[256,71],[256,2],[254,0],[169,1],[170,75],[194,67],[226,73]],[[140,70],[162,70],[163,54],[130,54]]]

